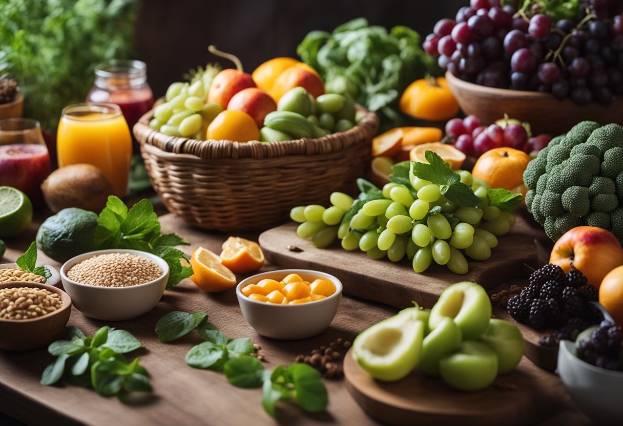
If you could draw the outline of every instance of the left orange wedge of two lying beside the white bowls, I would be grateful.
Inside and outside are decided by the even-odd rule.
[[[191,256],[191,280],[201,290],[214,293],[236,285],[235,275],[221,264],[221,259],[208,249],[199,247]]]

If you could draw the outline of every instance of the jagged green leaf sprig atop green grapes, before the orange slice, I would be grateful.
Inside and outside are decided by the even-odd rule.
[[[414,163],[415,176],[439,185],[441,194],[459,206],[476,207],[480,204],[482,200],[475,196],[472,188],[461,182],[459,174],[450,169],[449,163],[433,151],[426,151],[424,156],[429,164]]]

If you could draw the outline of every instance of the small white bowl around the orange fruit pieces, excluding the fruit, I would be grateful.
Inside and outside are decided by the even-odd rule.
[[[242,288],[249,284],[257,284],[265,278],[281,281],[290,273],[297,273],[308,282],[313,282],[318,278],[330,280],[335,285],[335,293],[322,300],[300,305],[260,302],[242,294]],[[235,294],[238,297],[242,316],[257,333],[280,340],[306,339],[322,333],[335,318],[342,298],[342,283],[338,278],[324,272],[308,269],[282,269],[245,278],[236,286]]]

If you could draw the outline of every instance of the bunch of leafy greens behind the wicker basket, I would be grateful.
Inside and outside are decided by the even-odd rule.
[[[435,60],[421,49],[421,37],[404,26],[387,31],[364,18],[333,33],[312,31],[297,47],[303,62],[318,70],[328,92],[351,95],[356,102],[396,122],[404,89],[427,73],[438,74]]]

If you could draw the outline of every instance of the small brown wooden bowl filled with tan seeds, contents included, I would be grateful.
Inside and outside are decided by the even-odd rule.
[[[45,348],[65,333],[71,306],[69,295],[51,285],[0,283],[0,349]]]

